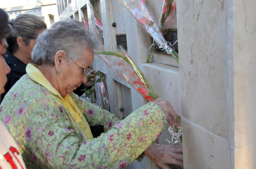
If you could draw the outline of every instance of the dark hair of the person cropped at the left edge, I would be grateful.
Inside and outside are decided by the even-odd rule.
[[[0,8],[0,39],[7,37],[10,33],[9,16]]]

